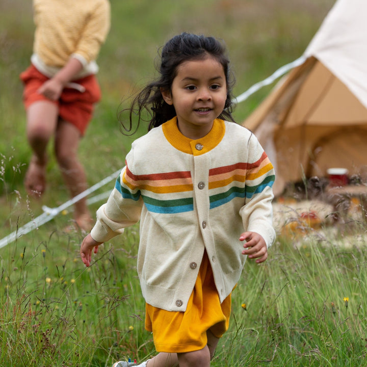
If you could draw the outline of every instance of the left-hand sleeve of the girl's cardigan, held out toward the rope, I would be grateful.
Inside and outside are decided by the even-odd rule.
[[[97,211],[97,221],[91,231],[92,238],[97,242],[111,240],[140,219],[143,200],[139,188],[126,179],[127,174],[128,168],[125,166],[107,203]]]

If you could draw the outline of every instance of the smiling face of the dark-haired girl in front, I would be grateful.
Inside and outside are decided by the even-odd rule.
[[[176,110],[180,132],[190,139],[202,138],[224,109],[227,84],[223,66],[211,56],[185,61],[177,67],[171,91],[161,92]]]

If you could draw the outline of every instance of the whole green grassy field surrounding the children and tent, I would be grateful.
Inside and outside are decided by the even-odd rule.
[[[42,202],[29,199],[22,187],[30,149],[18,75],[32,53],[30,3],[0,3],[0,239],[37,218],[42,205],[68,199],[52,144]],[[119,133],[117,111],[154,74],[159,47],[171,36],[189,31],[223,38],[237,96],[301,56],[333,3],[112,0],[112,28],[98,59],[103,98],[80,147],[89,184],[123,166],[136,137]],[[238,122],[269,88],[239,104]],[[99,205],[91,204],[91,211]],[[83,234],[64,229],[71,218],[68,209],[0,248],[1,366],[108,367],[119,358],[154,355],[136,273],[138,226],[101,246],[86,269],[78,256]],[[245,266],[233,293],[230,329],[212,365],[367,365],[365,223],[356,217],[347,234],[325,227],[295,238],[281,235],[280,218],[269,259]]]

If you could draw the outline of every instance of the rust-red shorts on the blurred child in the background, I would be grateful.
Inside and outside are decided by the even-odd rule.
[[[20,79],[24,83],[23,103],[26,109],[36,101],[53,102],[59,108],[60,118],[72,123],[84,135],[92,118],[94,103],[98,102],[101,97],[97,78],[94,75],[73,81],[73,83],[84,87],[84,92],[74,88],[64,88],[57,101],[51,101],[37,92],[41,85],[48,80],[48,77],[39,72],[33,65],[20,74]]]

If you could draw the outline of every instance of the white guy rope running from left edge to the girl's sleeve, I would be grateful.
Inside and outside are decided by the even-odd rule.
[[[56,208],[48,208],[47,206],[44,206],[43,209],[45,210],[44,213],[42,213],[37,218],[33,219],[32,221],[28,222],[27,224],[23,225],[22,227],[18,228],[16,231],[10,233],[7,237],[3,238],[0,241],[0,248],[9,245],[11,242],[15,241],[19,237],[21,237],[24,234],[27,234],[31,232],[34,229],[37,229],[42,224],[45,224],[49,222],[51,219],[56,217],[59,213],[61,213],[63,210],[74,204],[75,202],[83,199],[90,193],[96,191],[97,189],[101,188],[102,186],[106,185],[106,183],[112,181],[113,179],[116,179],[118,174],[121,172],[121,170],[116,171],[115,173],[111,174],[110,176],[102,179],[95,185],[91,186],[89,189],[83,191],[82,193],[74,196],[72,199],[66,201],[65,203],[61,204],[60,206]],[[101,194],[106,195],[106,193]],[[99,196],[99,195],[97,195]]]

